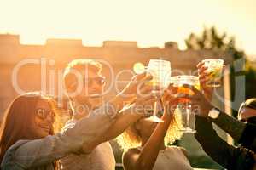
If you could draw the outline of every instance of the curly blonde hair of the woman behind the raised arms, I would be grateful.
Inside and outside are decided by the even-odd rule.
[[[166,132],[165,144],[173,144],[177,139],[182,137],[182,134],[179,129],[182,127],[181,116],[177,113],[172,114],[172,121],[168,130]],[[120,134],[116,139],[118,144],[123,150],[129,150],[131,148],[136,148],[142,144],[142,138],[133,123],[128,127],[124,133]]]

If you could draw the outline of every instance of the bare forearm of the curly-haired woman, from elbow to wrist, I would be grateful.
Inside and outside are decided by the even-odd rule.
[[[162,117],[162,119],[165,122],[160,122],[154,129],[154,132],[144,145],[143,150],[138,157],[136,167],[140,167],[141,169],[152,169],[154,167],[154,162],[156,161],[160,148],[164,143],[166,131],[171,122],[171,119],[166,118],[166,116]]]

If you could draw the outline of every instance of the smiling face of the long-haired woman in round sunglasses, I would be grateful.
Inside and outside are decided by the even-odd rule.
[[[55,113],[46,99],[39,99],[33,112],[31,131],[38,138],[44,138],[53,132]]]

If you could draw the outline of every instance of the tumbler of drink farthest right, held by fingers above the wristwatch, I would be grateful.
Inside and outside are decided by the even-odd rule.
[[[204,66],[207,67],[206,73],[209,81],[207,82],[208,87],[220,87],[221,77],[223,71],[224,60],[223,59],[204,59],[202,60]]]

